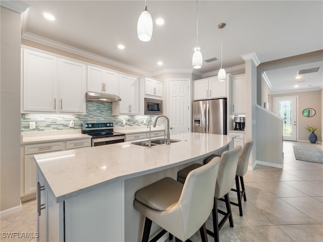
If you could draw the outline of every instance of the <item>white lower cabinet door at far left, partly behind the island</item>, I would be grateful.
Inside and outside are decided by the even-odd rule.
[[[36,163],[34,155],[25,155],[25,195],[36,192]]]

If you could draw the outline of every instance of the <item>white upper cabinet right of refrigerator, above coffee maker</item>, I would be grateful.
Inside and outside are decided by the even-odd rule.
[[[232,80],[232,112],[235,114],[246,113],[246,86],[245,75],[237,75]]]

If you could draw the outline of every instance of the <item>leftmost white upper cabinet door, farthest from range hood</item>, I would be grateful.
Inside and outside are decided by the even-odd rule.
[[[57,58],[23,50],[23,111],[56,112]]]

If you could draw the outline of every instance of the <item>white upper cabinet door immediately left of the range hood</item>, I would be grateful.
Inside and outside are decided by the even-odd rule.
[[[85,113],[86,66],[59,59],[60,111]]]

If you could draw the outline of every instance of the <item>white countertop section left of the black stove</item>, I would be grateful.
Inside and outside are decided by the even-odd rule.
[[[20,144],[34,144],[53,141],[65,141],[76,139],[91,139],[89,135],[83,135],[80,129],[59,131],[36,131],[21,133]]]

